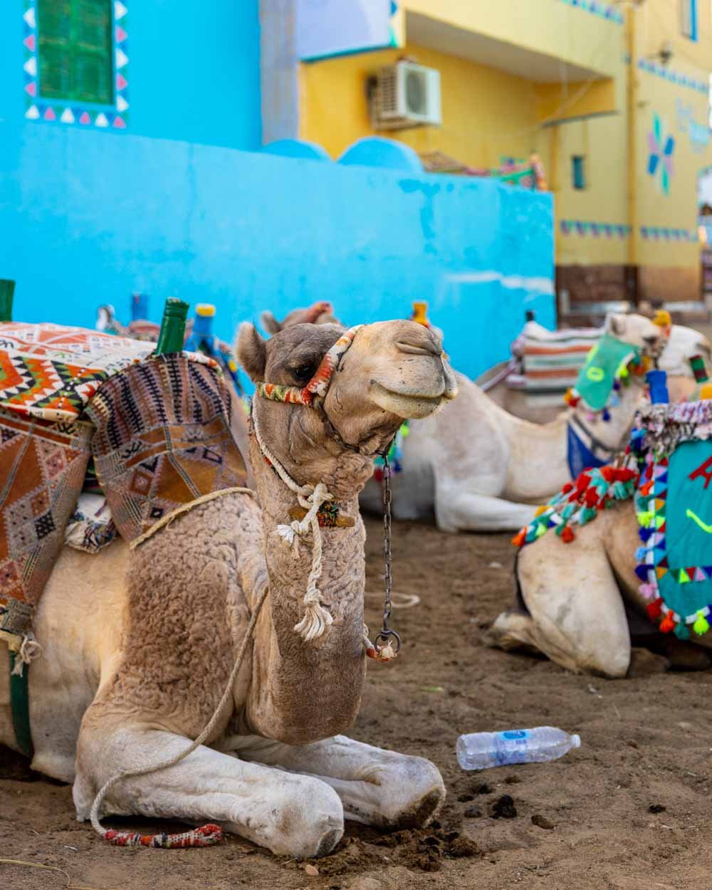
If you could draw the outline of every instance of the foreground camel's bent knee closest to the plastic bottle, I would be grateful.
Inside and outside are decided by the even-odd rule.
[[[378,784],[382,828],[420,828],[445,799],[440,770],[425,757],[397,756]]]

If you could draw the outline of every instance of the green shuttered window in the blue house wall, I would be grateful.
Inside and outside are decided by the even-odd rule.
[[[37,0],[37,31],[43,97],[113,103],[110,0]]]

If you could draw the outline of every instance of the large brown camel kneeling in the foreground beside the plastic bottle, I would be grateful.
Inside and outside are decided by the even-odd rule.
[[[342,333],[297,325],[265,342],[246,324],[238,357],[255,381],[301,388]],[[61,554],[36,614],[44,655],[29,672],[32,767],[74,781],[80,820],[111,776],[165,761],[198,737],[265,588],[230,705],[206,745],[119,781],[104,812],[217,822],[301,857],[333,849],[344,816],[412,826],[441,803],[441,775],[429,761],[337,733],[358,712],[365,676],[359,491],[374,452],[404,417],[428,417],[452,398],[454,377],[425,328],[389,321],[357,331],[327,385],[320,410],[255,398],[259,504],[233,491],[132,552],[117,541],[96,555]],[[267,450],[299,485],[322,483],[347,520],[320,530],[316,600],[305,597],[313,538],[286,546],[297,497]],[[323,632],[305,639],[316,612]],[[9,673],[0,647],[0,741],[14,747]]]

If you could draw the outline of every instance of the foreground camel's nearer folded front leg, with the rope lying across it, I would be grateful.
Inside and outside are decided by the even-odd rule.
[[[172,732],[139,728],[117,729],[109,738],[83,732],[73,789],[77,818],[88,819],[97,789],[115,773],[158,764],[189,744]],[[205,747],[167,769],[118,782],[103,809],[191,824],[217,822],[274,854],[295,857],[328,854],[344,833],[343,806],[326,782]]]

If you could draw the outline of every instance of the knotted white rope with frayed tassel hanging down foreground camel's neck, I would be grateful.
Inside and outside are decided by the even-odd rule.
[[[271,449],[265,445],[262,435],[260,434],[256,418],[253,416],[252,423],[255,428],[255,436],[257,443],[262,449],[264,457],[269,460],[271,465],[277,471],[281,481],[285,483],[290,491],[294,491],[296,499],[304,510],[307,511],[303,519],[295,520],[289,525],[278,525],[277,534],[280,538],[292,548],[292,556],[296,559],[299,555],[299,538],[312,532],[312,570],[309,572],[309,578],[306,582],[306,593],[304,594],[304,617],[298,624],[295,624],[295,631],[299,634],[304,643],[309,643],[321,636],[329,625],[334,623],[334,619],[328,609],[321,605],[321,594],[317,581],[321,577],[321,529],[319,524],[319,511],[321,505],[331,500],[333,495],[329,493],[323,482],[316,485],[299,485],[287,473],[287,470],[279,463]]]

